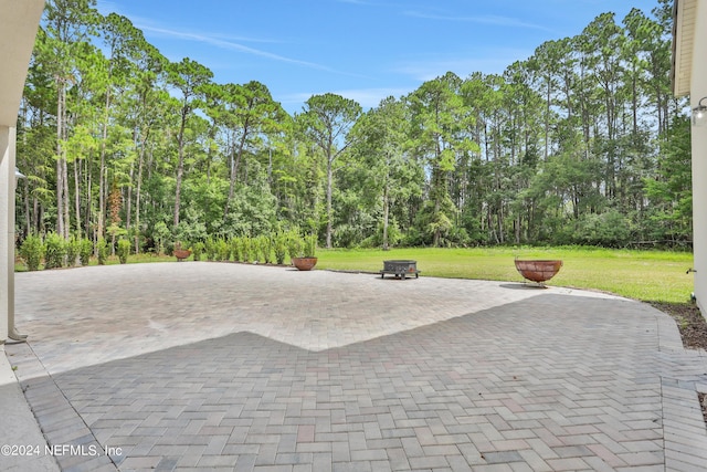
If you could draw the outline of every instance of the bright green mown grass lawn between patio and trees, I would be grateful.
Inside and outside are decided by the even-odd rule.
[[[521,282],[514,259],[561,259],[563,266],[549,285],[597,290],[644,302],[687,303],[693,292],[693,254],[671,251],[630,251],[579,247],[394,249],[317,251],[317,269],[374,272],[383,260],[418,261],[422,276]],[[128,264],[176,262],[170,255],[131,254]],[[107,264],[118,264],[108,258]],[[91,265],[97,262],[92,260]],[[17,270],[24,265],[19,262]]]

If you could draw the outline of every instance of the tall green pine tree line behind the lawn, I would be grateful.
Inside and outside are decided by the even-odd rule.
[[[503,74],[453,72],[363,111],[286,113],[265,84],[168,61],[94,0],[49,0],[18,117],[18,232],[327,248],[689,245],[672,1],[597,17]],[[688,109],[688,108],[687,108]]]

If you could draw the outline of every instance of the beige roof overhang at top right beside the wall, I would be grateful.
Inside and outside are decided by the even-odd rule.
[[[673,6],[673,70],[671,75],[675,96],[688,95],[690,90],[697,3],[698,0],[675,0]]]

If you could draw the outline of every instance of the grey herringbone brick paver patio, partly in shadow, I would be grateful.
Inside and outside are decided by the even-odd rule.
[[[707,355],[633,301],[190,262],[18,274],[17,311],[67,471],[707,470]]]

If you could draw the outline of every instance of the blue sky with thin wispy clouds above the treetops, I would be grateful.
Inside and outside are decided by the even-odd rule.
[[[258,81],[289,113],[315,94],[363,108],[447,71],[502,73],[549,40],[657,0],[97,0],[130,19],[170,61],[218,83]]]

